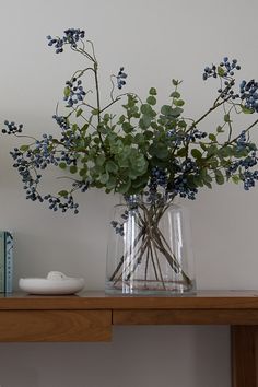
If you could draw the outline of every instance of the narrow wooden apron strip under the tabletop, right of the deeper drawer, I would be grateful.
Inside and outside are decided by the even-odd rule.
[[[113,310],[114,325],[258,325],[258,310]]]

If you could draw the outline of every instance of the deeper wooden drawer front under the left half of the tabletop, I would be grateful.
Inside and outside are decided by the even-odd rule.
[[[0,341],[109,341],[110,310],[0,310]]]

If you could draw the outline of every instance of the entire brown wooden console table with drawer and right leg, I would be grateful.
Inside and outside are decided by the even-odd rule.
[[[258,291],[191,296],[0,294],[0,341],[109,341],[113,325],[230,325],[232,386],[258,387]]]

